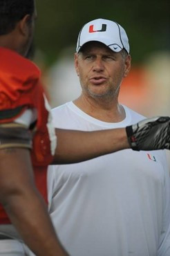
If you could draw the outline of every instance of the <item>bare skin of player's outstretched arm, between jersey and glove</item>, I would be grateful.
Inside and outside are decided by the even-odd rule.
[[[53,164],[78,163],[97,156],[130,148],[126,131],[71,131],[55,129],[57,148]]]

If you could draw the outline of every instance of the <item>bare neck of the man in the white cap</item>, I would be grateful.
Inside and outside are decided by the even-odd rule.
[[[117,100],[113,100],[112,102],[102,99],[94,100],[82,94],[73,103],[89,116],[103,122],[121,122],[126,117],[124,108]]]

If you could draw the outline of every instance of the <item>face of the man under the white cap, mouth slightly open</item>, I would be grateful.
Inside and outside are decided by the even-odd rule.
[[[117,98],[130,66],[130,56],[124,58],[100,42],[88,42],[81,53],[75,54],[82,92],[91,98]]]

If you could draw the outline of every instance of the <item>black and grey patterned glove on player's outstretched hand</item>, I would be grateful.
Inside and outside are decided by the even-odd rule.
[[[170,149],[170,118],[147,118],[126,127],[129,144],[133,150]]]

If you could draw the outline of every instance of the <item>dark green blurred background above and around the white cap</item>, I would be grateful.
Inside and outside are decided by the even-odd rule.
[[[170,51],[169,0],[37,0],[35,45],[53,64],[66,47],[75,48],[82,26],[97,18],[117,21],[129,36],[133,64],[154,51]]]

